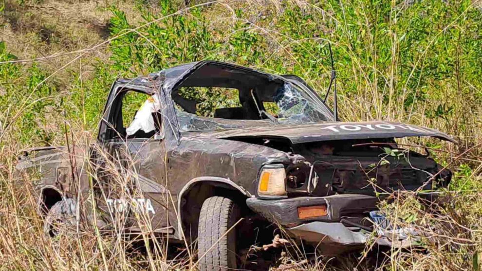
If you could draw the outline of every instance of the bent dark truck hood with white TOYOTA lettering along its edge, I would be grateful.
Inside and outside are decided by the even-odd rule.
[[[437,130],[396,122],[327,122],[309,125],[249,127],[192,134],[192,137],[194,138],[287,138],[293,144],[345,139],[380,139],[422,136],[435,137],[441,140],[457,143],[457,141],[447,134]]]

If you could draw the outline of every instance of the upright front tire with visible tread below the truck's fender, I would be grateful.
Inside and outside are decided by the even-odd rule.
[[[211,197],[204,200],[198,226],[198,257],[201,271],[227,271],[237,268],[237,231],[233,228],[224,234],[240,217],[240,208],[231,199]]]

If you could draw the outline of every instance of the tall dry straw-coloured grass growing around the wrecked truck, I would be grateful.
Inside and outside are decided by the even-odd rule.
[[[410,7],[409,2],[391,2],[389,19],[387,20],[389,25],[397,25],[397,20],[402,19],[397,16],[403,13],[404,9]],[[480,1],[472,2],[473,4],[469,5],[467,10],[475,8],[480,4]],[[389,46],[386,48],[388,53],[386,53],[386,51],[378,48],[376,42],[377,39],[382,37],[376,36],[376,33],[373,34],[373,29],[370,28],[370,25],[375,24],[371,15],[373,10],[363,6],[361,4],[362,1],[357,2],[360,4],[359,6],[353,6],[343,1],[339,3],[340,5],[335,8],[332,1],[323,2],[323,5],[313,4],[308,1],[297,1],[297,5],[303,12],[313,12],[326,22],[326,24],[320,26],[320,32],[325,31],[324,27],[327,27],[326,32],[330,34],[333,31],[330,30],[330,27],[332,24],[335,24],[336,29],[341,29],[341,33],[345,35],[335,36],[338,34],[333,34],[329,38],[326,36],[311,36],[309,38],[286,36],[286,33],[280,30],[276,24],[277,16],[274,16],[272,21],[260,19],[262,16],[269,16],[273,13],[278,14],[278,12],[284,12],[286,9],[289,9],[287,3],[284,2],[270,1],[266,4],[260,1],[249,1],[247,3],[241,1],[213,1],[201,5],[207,7],[207,11],[204,11],[205,16],[211,21],[208,29],[226,28],[230,30],[228,31],[230,32],[228,33],[229,35],[226,36],[244,33],[243,31],[256,33],[267,40],[260,47],[264,48],[266,52],[271,52],[272,56],[265,57],[263,62],[257,63],[249,63],[244,58],[239,57],[235,58],[237,62],[262,70],[270,71],[272,69],[274,72],[291,71],[289,67],[302,67],[302,69],[297,70],[297,73],[306,78],[318,90],[326,89],[329,66],[324,65],[320,71],[323,73],[315,76],[314,72],[310,70],[312,67],[300,65],[298,59],[301,57],[293,52],[299,53],[300,47],[310,45],[303,43],[307,39],[315,42],[332,41],[334,47],[341,51],[335,52],[339,56],[338,59],[342,59],[345,56],[350,59],[349,64],[346,65],[340,63],[343,62],[342,60],[337,60],[338,70],[341,70],[340,66],[345,69],[345,71],[339,71],[341,76],[338,81],[340,86],[340,112],[344,119],[409,122],[438,128],[456,136],[460,141],[460,145],[439,144],[426,140],[402,142],[410,145],[428,144],[431,146],[430,151],[433,155],[454,170],[455,176],[453,184],[447,190],[440,192],[445,199],[442,203],[425,206],[419,200],[416,200],[417,195],[407,192],[392,195],[393,201],[384,203],[381,206],[389,216],[405,218],[405,220],[409,220],[416,225],[417,229],[425,233],[424,250],[413,248],[409,250],[381,251],[378,252],[379,254],[376,254],[373,250],[370,250],[371,247],[368,245],[366,251],[361,254],[349,254],[333,258],[307,254],[303,247],[289,246],[278,261],[274,263],[273,269],[472,270],[475,263],[480,263],[482,258],[480,253],[482,249],[482,202],[480,197],[482,191],[482,161],[479,148],[482,137],[480,117],[482,108],[478,104],[480,100],[476,98],[481,92],[480,86],[474,85],[471,78],[464,77],[464,74],[460,73],[462,66],[460,64],[463,64],[464,61],[463,57],[459,57],[461,53],[453,53],[453,57],[459,57],[458,61],[456,61],[458,64],[452,67],[456,74],[455,80],[446,80],[445,85],[438,85],[439,83],[436,81],[429,83],[428,85],[433,84],[434,87],[428,91],[429,97],[427,99],[412,103],[408,107],[405,106],[406,101],[414,95],[408,85],[414,81],[418,82],[417,84],[423,81],[424,74],[420,72],[420,69],[433,68],[432,66],[428,68],[425,66],[429,61],[427,55],[430,54],[431,50],[434,50],[432,45],[437,43],[438,38],[441,36],[448,35],[447,32],[449,30],[454,28],[463,29],[465,26],[463,19],[469,17],[469,13],[468,11],[462,11],[458,16],[450,18],[445,25],[440,26],[440,30],[435,35],[429,36],[425,40],[426,44],[422,47],[420,54],[417,54],[415,59],[413,59],[413,63],[410,63],[412,64],[411,68],[408,69],[407,73],[401,75],[397,71],[400,71],[407,65],[400,56],[404,53],[403,50],[407,50],[407,48],[401,47],[401,40],[404,35],[409,34],[404,32],[408,25],[389,28],[389,32],[386,34],[386,37],[389,39]],[[92,5],[93,3],[89,2],[89,4]],[[126,7],[123,7],[124,10],[132,9],[133,4],[124,4],[126,5]],[[20,10],[22,7],[14,6],[13,8]],[[246,16],[237,16],[236,11],[238,9],[242,9]],[[344,17],[337,17],[335,9],[342,9]],[[345,15],[349,12],[356,13],[357,17],[355,20],[347,23]],[[259,16],[259,13],[262,13],[262,15]],[[107,12],[102,14],[105,16]],[[170,18],[178,14],[189,16],[189,12],[181,9],[178,13],[168,14],[166,17]],[[69,18],[74,17],[72,10],[69,11],[69,16]],[[131,33],[140,34],[139,36],[142,38],[136,41],[144,42],[145,44],[142,46],[152,46],[150,49],[152,51],[162,52],[164,50],[155,40],[151,40],[148,36],[143,35],[146,33],[145,29],[149,25],[162,25],[164,17],[146,22],[140,19],[137,14],[131,13],[128,14],[128,18],[137,20],[137,26],[131,26],[130,30],[120,32],[107,39],[100,37],[89,39],[88,37],[91,35],[89,32],[79,34],[78,40],[82,40],[82,42],[69,41],[69,44],[73,44],[72,47],[62,47],[59,43],[54,43],[54,45],[49,47],[45,43],[39,43],[43,46],[41,48],[49,50],[41,51],[40,53],[31,53],[31,51],[25,53],[28,51],[27,46],[25,46],[25,50],[19,50],[19,46],[25,43],[16,39],[15,44],[17,44],[17,48],[15,49],[15,54],[22,56],[21,59],[2,60],[2,63],[0,63],[0,65],[5,67],[5,65],[14,65],[14,62],[17,64],[30,63],[35,60],[41,63],[45,69],[44,76],[40,76],[37,81],[33,81],[33,87],[29,89],[30,92],[21,97],[22,99],[9,99],[7,95],[7,98],[2,100],[5,103],[2,105],[4,106],[2,108],[6,109],[0,112],[1,270],[189,270],[196,268],[198,259],[195,256],[194,247],[190,245],[170,246],[171,243],[168,240],[154,238],[149,228],[149,223],[147,223],[148,217],[135,217],[136,223],[144,225],[143,234],[139,235],[137,239],[126,238],[122,235],[126,230],[123,224],[125,216],[123,217],[122,215],[116,217],[113,229],[108,232],[99,229],[95,224],[87,224],[85,226],[79,224],[75,229],[64,229],[64,234],[58,238],[51,239],[47,237],[43,233],[44,217],[37,208],[38,195],[34,187],[35,178],[22,179],[15,176],[16,157],[19,154],[19,150],[24,147],[45,144],[45,142],[49,144],[65,144],[66,138],[69,138],[71,145],[76,146],[89,145],[93,142],[96,124],[92,124],[89,121],[89,114],[96,114],[101,108],[89,108],[83,102],[72,105],[77,112],[80,112],[77,115],[79,116],[78,119],[72,119],[70,116],[65,115],[59,117],[58,113],[52,113],[48,119],[52,123],[52,127],[45,129],[49,131],[60,130],[61,132],[56,132],[50,141],[45,140],[45,137],[40,142],[35,143],[28,140],[19,140],[22,133],[28,132],[22,130],[22,118],[25,117],[26,113],[32,111],[36,104],[44,100],[54,100],[56,103],[60,103],[63,99],[68,100],[62,97],[71,95],[76,89],[87,85],[87,81],[96,79],[92,76],[83,75],[85,73],[82,72],[83,69],[84,71],[89,70],[92,75],[94,73],[92,71],[98,69],[93,64],[93,55],[99,56],[102,61],[107,63],[108,55],[111,52],[107,51],[108,49],[106,48],[112,45],[113,41]],[[28,18],[23,20],[26,21]],[[58,22],[58,24],[61,23]],[[236,23],[241,24],[242,28],[239,27],[235,30],[229,28]],[[307,25],[309,23],[307,22]],[[364,35],[351,39],[350,36],[354,35],[352,33],[357,31],[364,33]],[[474,30],[467,27],[464,31],[470,33],[470,31]],[[2,34],[5,35],[5,33]],[[12,40],[15,39],[12,36],[20,36],[14,32],[7,34],[11,36],[10,39]],[[22,33],[21,37],[23,40],[32,42],[29,39],[29,35],[29,33]],[[218,38],[227,47],[229,41],[226,36]],[[6,40],[4,36],[2,36],[2,39]],[[365,41],[365,43],[362,43],[364,46],[362,51],[365,54],[360,54],[359,49],[352,46],[351,43],[356,39]],[[315,43],[311,45],[314,46]],[[116,46],[121,47],[122,44]],[[477,46],[477,43],[474,46]],[[388,54],[387,57],[390,59],[389,65],[380,67],[377,61],[366,61],[365,57],[378,59],[381,51],[384,54]],[[308,54],[307,57],[312,59],[319,58],[319,55],[314,54],[314,52],[309,50],[307,52],[309,52],[306,53]],[[222,54],[229,55],[229,52],[222,52]],[[270,62],[270,59],[273,58],[280,60]],[[282,64],[279,64],[280,62]],[[282,67],[271,68],[271,64],[279,64]],[[477,67],[474,68],[477,69]],[[11,69],[13,70],[13,68]],[[148,72],[148,68],[144,66],[141,66],[140,70]],[[80,72],[75,73],[72,71]],[[18,78],[17,81],[1,82],[1,90],[5,89],[3,92],[14,90],[14,88],[7,88],[11,84],[27,84],[26,77],[34,74],[34,72],[38,71],[30,69],[25,72],[26,75],[22,73],[16,77]],[[139,72],[139,70],[135,72]],[[71,73],[74,73],[75,76],[69,75]],[[405,77],[401,78],[402,76]],[[41,92],[41,95],[37,95],[41,91],[42,86],[51,81],[55,81],[57,87],[67,87],[68,90],[55,93]],[[72,86],[69,81],[80,83]],[[355,82],[352,84],[355,87],[352,87],[352,82]],[[435,91],[438,87],[443,89],[443,91]],[[5,97],[5,93],[3,97]],[[386,101],[387,99],[388,101]],[[85,102],[85,100],[83,101]],[[442,116],[438,116],[435,113],[433,113],[435,115],[427,113],[436,111],[437,108],[434,106],[436,104],[433,101],[440,101],[439,104],[443,106]],[[99,102],[99,104],[102,103]],[[444,115],[448,112],[448,110],[445,110],[445,105],[452,108],[450,114]],[[40,125],[41,123],[38,120],[38,124]],[[65,126],[67,126],[67,131],[64,131]],[[116,160],[111,159],[108,153],[101,150],[99,152],[104,155],[106,161],[111,161],[105,165],[105,171],[111,175],[112,180],[117,182],[119,187],[133,187],[136,185],[135,172],[119,171],[119,168],[123,167],[116,164],[114,162]],[[79,156],[77,159],[86,161],[87,157]],[[97,177],[95,171],[89,171],[88,167],[85,167],[85,170],[92,180]],[[125,190],[121,189],[121,191]],[[87,203],[93,204],[95,202],[93,197],[107,197],[109,193],[110,191],[105,191],[103,195],[99,196],[92,192],[92,194],[85,197],[85,200],[87,200]],[[126,199],[132,197],[131,194],[123,196]],[[130,200],[128,201],[130,202]],[[77,202],[82,202],[82,200],[79,198]],[[80,214],[85,214],[83,217],[92,217],[94,215],[89,208],[84,208],[89,206],[87,203],[78,205],[79,217],[81,217]],[[166,204],[172,204],[172,202],[166,199]],[[96,215],[100,216],[102,214]],[[139,245],[139,243],[142,243],[142,245]],[[146,246],[145,244],[148,245]]]

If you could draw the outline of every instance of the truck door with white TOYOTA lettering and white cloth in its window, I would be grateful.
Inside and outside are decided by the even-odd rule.
[[[123,223],[131,231],[172,233],[157,94],[123,87],[112,92],[99,129],[99,208],[111,222]]]

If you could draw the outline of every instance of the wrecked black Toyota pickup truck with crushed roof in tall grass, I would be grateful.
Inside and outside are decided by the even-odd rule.
[[[78,204],[93,204],[94,194],[104,214],[97,225],[143,215],[148,227],[126,218],[125,231],[197,241],[201,270],[237,268],[241,247],[260,241],[257,221],[336,254],[367,242],[380,193],[450,181],[451,172],[427,155],[388,155],[401,150],[396,138],[454,140],[429,128],[334,115],[297,76],[189,63],[117,79],[95,144],[28,150],[17,168],[41,173],[35,187],[50,235],[59,233],[56,223],[79,219]],[[131,180],[126,187],[102,171],[107,163]]]

